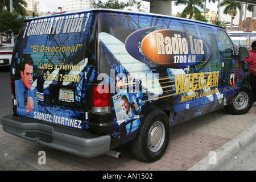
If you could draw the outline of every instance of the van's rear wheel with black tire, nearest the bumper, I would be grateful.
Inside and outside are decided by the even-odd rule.
[[[137,137],[131,142],[134,157],[143,162],[160,159],[170,140],[170,122],[162,110],[151,110],[146,115]]]

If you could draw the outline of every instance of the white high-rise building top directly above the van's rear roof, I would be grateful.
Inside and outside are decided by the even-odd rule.
[[[94,7],[93,2],[95,0],[66,0],[65,10],[90,9]]]

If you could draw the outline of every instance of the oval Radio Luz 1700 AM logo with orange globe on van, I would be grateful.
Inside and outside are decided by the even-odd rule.
[[[130,55],[143,63],[160,64],[171,68],[186,68],[205,63],[212,58],[212,48],[204,40],[189,35],[180,30],[155,30],[158,27],[142,28],[130,34],[126,39],[125,46]],[[142,34],[146,31],[155,30],[144,36],[141,42],[141,52],[150,61],[143,59],[137,48]],[[210,53],[206,59],[206,53]]]

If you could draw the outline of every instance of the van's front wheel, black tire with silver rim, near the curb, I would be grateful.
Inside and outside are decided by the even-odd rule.
[[[225,106],[226,111],[233,115],[246,114],[253,105],[253,92],[248,86],[242,85],[234,102]]]

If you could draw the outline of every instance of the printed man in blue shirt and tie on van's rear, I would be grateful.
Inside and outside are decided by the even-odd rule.
[[[15,81],[17,114],[32,117],[32,110],[38,110],[35,94],[31,90],[33,78],[33,60],[26,58],[20,71],[20,80]]]

